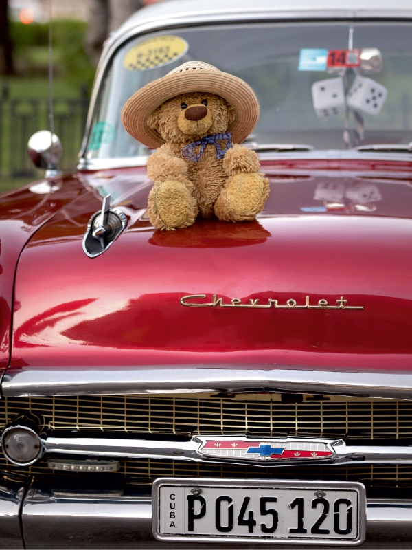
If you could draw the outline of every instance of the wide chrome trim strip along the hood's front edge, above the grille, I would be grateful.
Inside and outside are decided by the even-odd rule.
[[[277,369],[262,364],[192,364],[89,368],[10,368],[5,397],[150,395],[157,393],[282,391],[361,397],[412,398],[412,371]]]

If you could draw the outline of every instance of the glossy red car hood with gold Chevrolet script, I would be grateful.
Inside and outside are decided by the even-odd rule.
[[[64,208],[21,254],[12,366],[412,369],[409,177],[269,168],[257,221],[173,232],[144,217],[143,182],[117,199],[128,228],[95,259],[82,238],[100,201]],[[340,206],[323,196],[336,184]],[[354,197],[367,185],[374,203],[370,188]]]

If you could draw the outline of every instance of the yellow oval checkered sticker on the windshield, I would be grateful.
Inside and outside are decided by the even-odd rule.
[[[155,36],[139,42],[124,56],[123,66],[128,71],[146,71],[163,67],[185,55],[189,44],[180,36]]]

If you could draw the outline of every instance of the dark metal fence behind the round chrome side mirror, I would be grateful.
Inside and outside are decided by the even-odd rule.
[[[0,176],[33,177],[27,142],[38,130],[48,129],[47,98],[0,98]],[[62,170],[76,166],[86,125],[89,98],[54,100],[54,132],[62,142]]]

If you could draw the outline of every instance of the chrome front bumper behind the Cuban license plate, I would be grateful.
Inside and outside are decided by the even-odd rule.
[[[368,500],[367,542],[398,539],[412,541],[412,500]],[[172,546],[152,537],[147,490],[59,489],[40,483],[27,489],[23,481],[4,477],[0,482],[1,549]]]

